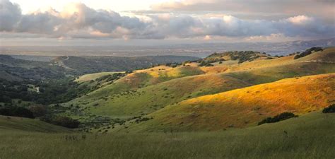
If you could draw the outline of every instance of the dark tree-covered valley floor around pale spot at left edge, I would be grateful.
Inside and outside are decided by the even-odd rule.
[[[6,81],[0,79],[0,102],[13,104],[13,99],[49,105],[66,102],[90,91],[74,78],[48,78],[45,81]],[[17,103],[17,104],[20,104]],[[13,104],[14,105],[14,104]]]

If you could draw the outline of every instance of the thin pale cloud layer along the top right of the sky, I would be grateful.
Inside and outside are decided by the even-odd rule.
[[[334,23],[334,6],[334,0],[171,0],[151,8],[160,12],[221,12],[248,19],[309,15]]]

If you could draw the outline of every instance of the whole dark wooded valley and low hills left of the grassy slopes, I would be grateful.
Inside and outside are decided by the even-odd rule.
[[[181,62],[196,57],[57,57],[52,61],[28,61],[0,55],[0,103],[12,99],[49,105],[85,95],[124,76],[117,73],[90,83],[76,83],[74,77],[101,71],[143,69],[167,62]],[[117,67],[118,66],[118,67]]]

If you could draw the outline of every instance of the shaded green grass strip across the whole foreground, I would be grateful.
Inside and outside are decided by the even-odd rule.
[[[216,132],[45,134],[0,130],[0,158],[331,158],[335,114]],[[66,135],[78,140],[66,140]]]

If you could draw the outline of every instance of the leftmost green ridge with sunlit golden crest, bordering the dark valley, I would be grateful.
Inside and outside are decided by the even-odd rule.
[[[113,100],[116,97],[120,97],[120,93],[129,94],[134,90],[139,90],[141,88],[146,88],[147,86],[163,83],[164,81],[170,81],[174,78],[194,76],[201,73],[203,73],[203,71],[201,71],[199,68],[187,66],[178,68],[158,66],[152,69],[139,70],[128,74],[124,78],[121,78],[108,86],[104,86],[98,90],[95,90],[88,95],[72,100],[71,102],[66,103],[66,105],[72,104],[81,107],[92,107],[98,103],[99,105],[108,106],[107,104],[109,104],[109,102],[107,100]],[[120,112],[119,110],[115,111]]]

